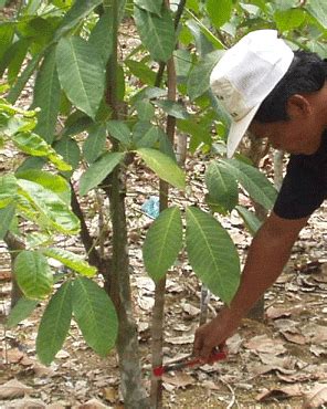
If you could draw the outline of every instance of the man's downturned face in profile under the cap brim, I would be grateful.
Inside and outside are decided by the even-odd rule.
[[[257,138],[267,138],[275,149],[313,155],[320,146],[324,129],[317,122],[296,118],[268,124],[253,122],[249,130]]]

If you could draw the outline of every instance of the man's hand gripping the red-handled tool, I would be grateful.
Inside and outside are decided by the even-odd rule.
[[[223,344],[238,329],[240,319],[232,316],[231,311],[224,308],[217,317],[196,331],[193,345],[194,356],[207,361],[214,347]]]

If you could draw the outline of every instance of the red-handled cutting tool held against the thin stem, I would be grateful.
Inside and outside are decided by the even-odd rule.
[[[160,377],[166,373],[169,373],[171,370],[181,370],[184,368],[191,368],[193,366],[201,366],[204,364],[212,365],[213,363],[217,363],[219,360],[224,360],[228,357],[228,350],[225,347],[225,344],[222,344],[219,346],[218,349],[214,349],[210,357],[203,361],[201,358],[192,358],[191,356],[188,356],[187,358],[182,359],[179,363],[176,364],[168,364],[158,366],[157,368],[152,369],[152,373],[156,377]]]

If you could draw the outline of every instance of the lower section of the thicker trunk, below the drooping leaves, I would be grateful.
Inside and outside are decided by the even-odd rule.
[[[110,214],[113,223],[113,258],[110,270],[110,297],[119,319],[117,352],[119,356],[120,388],[127,409],[149,408],[141,382],[138,355],[137,326],[133,316],[129,281],[129,255],[125,212],[125,190],[120,180],[122,169],[113,174]]]

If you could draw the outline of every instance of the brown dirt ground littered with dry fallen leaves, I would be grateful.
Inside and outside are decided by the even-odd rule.
[[[191,201],[203,201],[200,182],[203,169],[202,162],[189,160]],[[154,283],[144,271],[140,249],[151,219],[143,213],[141,204],[155,195],[156,179],[149,176],[146,186],[140,183],[141,179],[145,180],[144,171],[139,169],[130,177],[127,209],[135,316],[139,327],[144,379],[149,388]],[[175,196],[172,200],[182,206],[186,198]],[[247,199],[243,197],[242,200],[246,202]],[[92,208],[88,211],[92,212]],[[283,275],[265,294],[265,321],[243,322],[229,340],[225,361],[164,376],[165,408],[302,408],[305,402],[305,407],[318,408],[327,402],[327,222],[324,213],[325,207],[312,217]],[[244,259],[251,238],[241,220],[232,214],[221,221]],[[96,214],[94,222],[96,224]],[[76,238],[63,245],[83,253]],[[3,247],[0,256],[0,271],[6,280],[9,260]],[[4,280],[0,283],[2,318],[10,302],[10,283]],[[164,349],[167,360],[191,352],[199,322],[200,290],[196,275],[181,254],[167,281]],[[212,296],[209,317],[220,307],[220,301]],[[0,385],[3,387],[7,381],[17,379],[22,386],[14,386],[20,390],[18,398],[0,400],[0,407],[97,408],[104,405],[124,408],[116,354],[113,352],[106,359],[98,358],[85,345],[74,323],[55,361],[50,367],[38,363],[35,336],[42,310],[40,305],[29,319],[1,335]],[[92,399],[93,406],[87,406]]]

